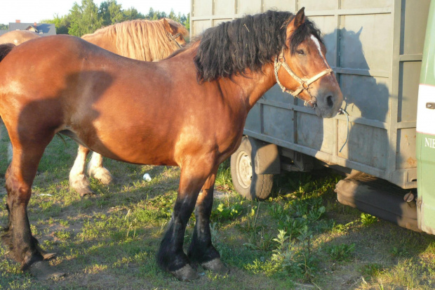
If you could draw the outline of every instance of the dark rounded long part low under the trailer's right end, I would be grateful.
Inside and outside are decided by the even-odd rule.
[[[356,178],[340,180],[335,186],[335,192],[341,204],[352,206],[403,228],[421,232],[417,226],[415,200],[406,202],[403,199],[409,190],[363,174]]]

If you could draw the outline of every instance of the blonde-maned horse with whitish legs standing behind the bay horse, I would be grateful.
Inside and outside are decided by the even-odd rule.
[[[131,20],[98,29],[81,38],[126,58],[156,61],[168,57],[185,46],[189,32],[179,22],[161,20]],[[69,186],[81,197],[93,193],[85,173],[86,157],[90,150],[79,145],[77,157],[69,171]],[[88,175],[103,184],[112,182],[112,174],[103,165],[101,154],[93,152],[88,164]]]

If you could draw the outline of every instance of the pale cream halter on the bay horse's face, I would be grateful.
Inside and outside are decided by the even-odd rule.
[[[279,81],[278,70],[281,67],[281,65],[286,69],[288,74],[290,74],[290,76],[293,77],[293,79],[295,79],[300,84],[300,86],[296,88],[296,91],[289,90],[288,88],[286,88],[281,84],[281,81]],[[311,77],[309,79],[306,78],[301,79],[300,77],[297,77],[297,75],[293,72],[293,70],[291,70],[290,67],[287,65],[286,58],[284,58],[284,49],[283,49],[281,53],[277,55],[275,58],[274,72],[275,72],[276,83],[278,83],[279,87],[283,90],[283,92],[290,93],[290,95],[293,95],[293,97],[295,98],[300,98],[299,94],[302,93],[302,91],[307,91],[307,93],[311,96],[312,99],[304,100],[304,105],[307,106],[309,103],[311,103],[313,105],[312,109],[314,110],[314,107],[316,107],[316,101],[313,100],[312,94],[309,93],[309,89],[310,89],[309,85],[314,83],[314,81],[317,81],[321,77],[325,76],[326,74],[332,73],[333,70],[329,68],[323,70],[322,72],[319,72],[319,74],[316,74],[314,77]]]

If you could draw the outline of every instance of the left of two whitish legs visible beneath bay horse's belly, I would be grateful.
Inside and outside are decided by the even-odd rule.
[[[93,193],[91,183],[89,183],[89,179],[85,175],[86,157],[90,151],[88,148],[79,145],[76,160],[71,171],[69,171],[69,187],[79,193],[81,197]]]

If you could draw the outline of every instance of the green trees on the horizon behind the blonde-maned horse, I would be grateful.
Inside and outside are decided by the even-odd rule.
[[[103,1],[98,7],[93,0],[81,0],[81,4],[74,2],[67,15],[55,15],[53,19],[41,20],[42,23],[53,23],[57,34],[70,34],[81,37],[83,34],[93,33],[95,30],[115,23],[134,19],[159,20],[170,18],[180,22],[189,29],[190,15],[173,10],[168,15],[165,12],[154,11],[149,8],[147,14],[140,13],[136,8],[123,9],[116,0]]]

